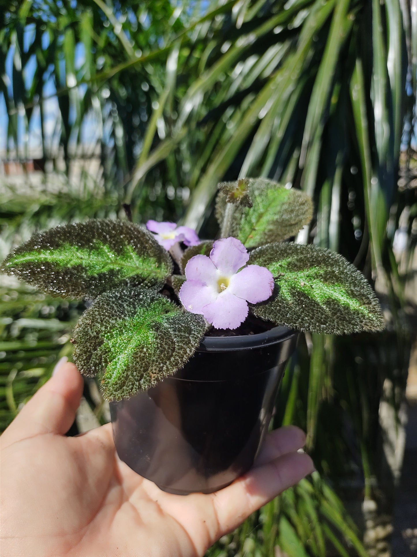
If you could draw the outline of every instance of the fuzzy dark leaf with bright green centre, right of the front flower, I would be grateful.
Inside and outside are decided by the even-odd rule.
[[[275,278],[274,297],[252,308],[262,319],[312,333],[380,331],[384,319],[365,277],[339,253],[316,246],[273,243],[251,252],[250,263]]]

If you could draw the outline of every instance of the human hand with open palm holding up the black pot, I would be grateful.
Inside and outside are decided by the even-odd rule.
[[[188,557],[314,470],[302,431],[269,434],[245,476],[210,495],[171,495],[116,455],[111,424],[65,437],[83,380],[64,363],[1,439],[3,557]]]

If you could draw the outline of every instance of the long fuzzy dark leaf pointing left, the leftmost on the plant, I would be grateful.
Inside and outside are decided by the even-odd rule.
[[[52,296],[95,299],[117,286],[159,290],[172,272],[172,260],[140,226],[92,219],[33,234],[0,270]]]

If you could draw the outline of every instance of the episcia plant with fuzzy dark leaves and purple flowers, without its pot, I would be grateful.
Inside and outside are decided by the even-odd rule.
[[[47,294],[93,301],[73,332],[73,360],[99,375],[110,400],[174,374],[216,329],[247,334],[252,321],[314,333],[384,328],[351,263],[285,242],[311,220],[305,193],[261,178],[221,183],[216,217],[216,241],[171,222],[58,226],[17,247],[1,270]]]

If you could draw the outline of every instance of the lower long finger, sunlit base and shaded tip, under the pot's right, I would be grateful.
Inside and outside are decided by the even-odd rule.
[[[289,453],[252,468],[230,486],[212,494],[219,532],[216,539],[239,526],[260,509],[315,470],[305,453]]]

